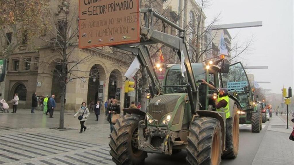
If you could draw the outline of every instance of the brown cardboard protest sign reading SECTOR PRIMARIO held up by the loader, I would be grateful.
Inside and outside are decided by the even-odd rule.
[[[140,42],[139,0],[79,0],[79,48]]]

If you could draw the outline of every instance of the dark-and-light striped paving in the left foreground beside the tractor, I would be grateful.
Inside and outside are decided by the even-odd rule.
[[[114,165],[107,145],[109,125],[87,127],[83,134],[78,129],[0,127],[0,164]]]

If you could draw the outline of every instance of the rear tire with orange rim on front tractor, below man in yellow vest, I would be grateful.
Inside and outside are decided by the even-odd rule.
[[[229,120],[228,131],[230,133],[230,144],[226,146],[226,150],[223,152],[222,157],[227,159],[235,159],[239,150],[239,115],[238,115],[239,106],[234,104],[234,111],[232,119]],[[227,131],[227,130],[226,130]]]

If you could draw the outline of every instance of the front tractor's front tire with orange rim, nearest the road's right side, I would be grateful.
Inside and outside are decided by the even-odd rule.
[[[195,118],[189,128],[188,165],[219,165],[222,153],[220,122],[211,117]]]

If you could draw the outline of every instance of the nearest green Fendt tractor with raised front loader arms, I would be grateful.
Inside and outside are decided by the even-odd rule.
[[[143,164],[147,153],[172,155],[181,150],[187,151],[189,165],[219,165],[222,157],[235,158],[239,147],[240,99],[229,95],[231,120],[226,128],[225,112],[217,112],[215,108],[214,91],[201,83],[205,79],[215,87],[223,87],[222,77],[228,74],[228,65],[191,63],[185,31],[152,9],[140,9],[140,12],[145,16],[141,42],[113,47],[138,57],[148,74],[151,99],[147,112],[124,109],[127,115],[116,120],[109,142],[112,160],[118,165]],[[154,30],[154,20],[147,16],[155,16],[177,29],[180,37]],[[181,65],[173,65],[166,70],[163,85],[158,81],[145,46],[154,43],[177,50],[181,60]],[[229,137],[226,137],[226,131],[230,132]],[[226,138],[230,139],[228,146]]]

